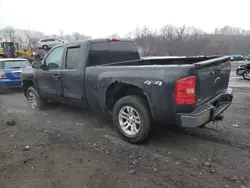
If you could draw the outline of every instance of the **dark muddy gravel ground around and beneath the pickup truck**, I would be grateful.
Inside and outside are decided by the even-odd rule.
[[[232,72],[230,86],[218,126],[159,127],[139,146],[106,117],[58,104],[34,112],[20,91],[0,95],[0,188],[250,188],[250,82]]]

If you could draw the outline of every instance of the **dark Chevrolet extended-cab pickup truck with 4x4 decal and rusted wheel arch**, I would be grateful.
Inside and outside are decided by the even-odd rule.
[[[34,110],[47,101],[101,110],[123,138],[140,143],[156,124],[222,120],[233,99],[230,69],[230,56],[140,58],[132,40],[92,39],[55,46],[21,77]]]

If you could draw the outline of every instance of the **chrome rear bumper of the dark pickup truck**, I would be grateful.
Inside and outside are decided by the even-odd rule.
[[[196,108],[192,113],[177,114],[177,124],[181,127],[195,128],[215,121],[231,105],[232,100],[232,89],[227,88],[218,96]]]

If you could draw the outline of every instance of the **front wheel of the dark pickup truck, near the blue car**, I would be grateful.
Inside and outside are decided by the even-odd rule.
[[[46,103],[46,101],[39,96],[36,89],[33,87],[28,88],[26,97],[29,102],[29,105],[31,106],[33,110],[37,110],[37,111],[42,110],[42,108],[44,107]]]

